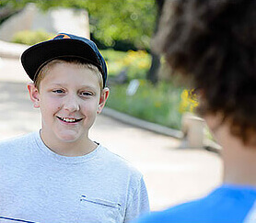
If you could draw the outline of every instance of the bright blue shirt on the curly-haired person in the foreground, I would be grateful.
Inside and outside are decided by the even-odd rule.
[[[136,223],[256,222],[256,188],[224,184],[201,199],[140,218]]]

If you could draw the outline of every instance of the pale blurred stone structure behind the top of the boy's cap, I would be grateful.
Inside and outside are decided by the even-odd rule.
[[[86,10],[62,7],[42,12],[30,3],[1,24],[0,39],[11,41],[18,31],[38,29],[52,34],[66,32],[89,39],[88,14]]]

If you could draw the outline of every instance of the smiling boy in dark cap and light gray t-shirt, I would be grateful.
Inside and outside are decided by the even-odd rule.
[[[0,222],[128,222],[148,211],[141,173],[88,131],[106,103],[96,45],[62,33],[21,56],[41,130],[0,143]]]

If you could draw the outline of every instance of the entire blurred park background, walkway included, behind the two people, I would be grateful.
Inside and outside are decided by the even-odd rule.
[[[109,70],[108,116],[122,119],[120,123],[99,117],[92,135],[145,174],[152,208],[204,195],[219,184],[220,148],[204,120],[195,116],[197,100],[151,50],[169,2],[0,0],[0,139],[40,128],[39,113],[32,110],[24,84],[29,79],[17,75],[24,72],[20,53],[58,32],[73,33],[98,45]],[[150,126],[150,132],[133,127],[140,120],[147,123],[140,128]]]

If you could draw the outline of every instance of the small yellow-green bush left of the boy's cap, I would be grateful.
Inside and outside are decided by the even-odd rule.
[[[52,34],[47,33],[41,29],[36,31],[24,30],[24,31],[17,32],[14,35],[12,42],[27,44],[27,45],[34,45],[41,41],[51,39],[52,36],[53,36]]]

